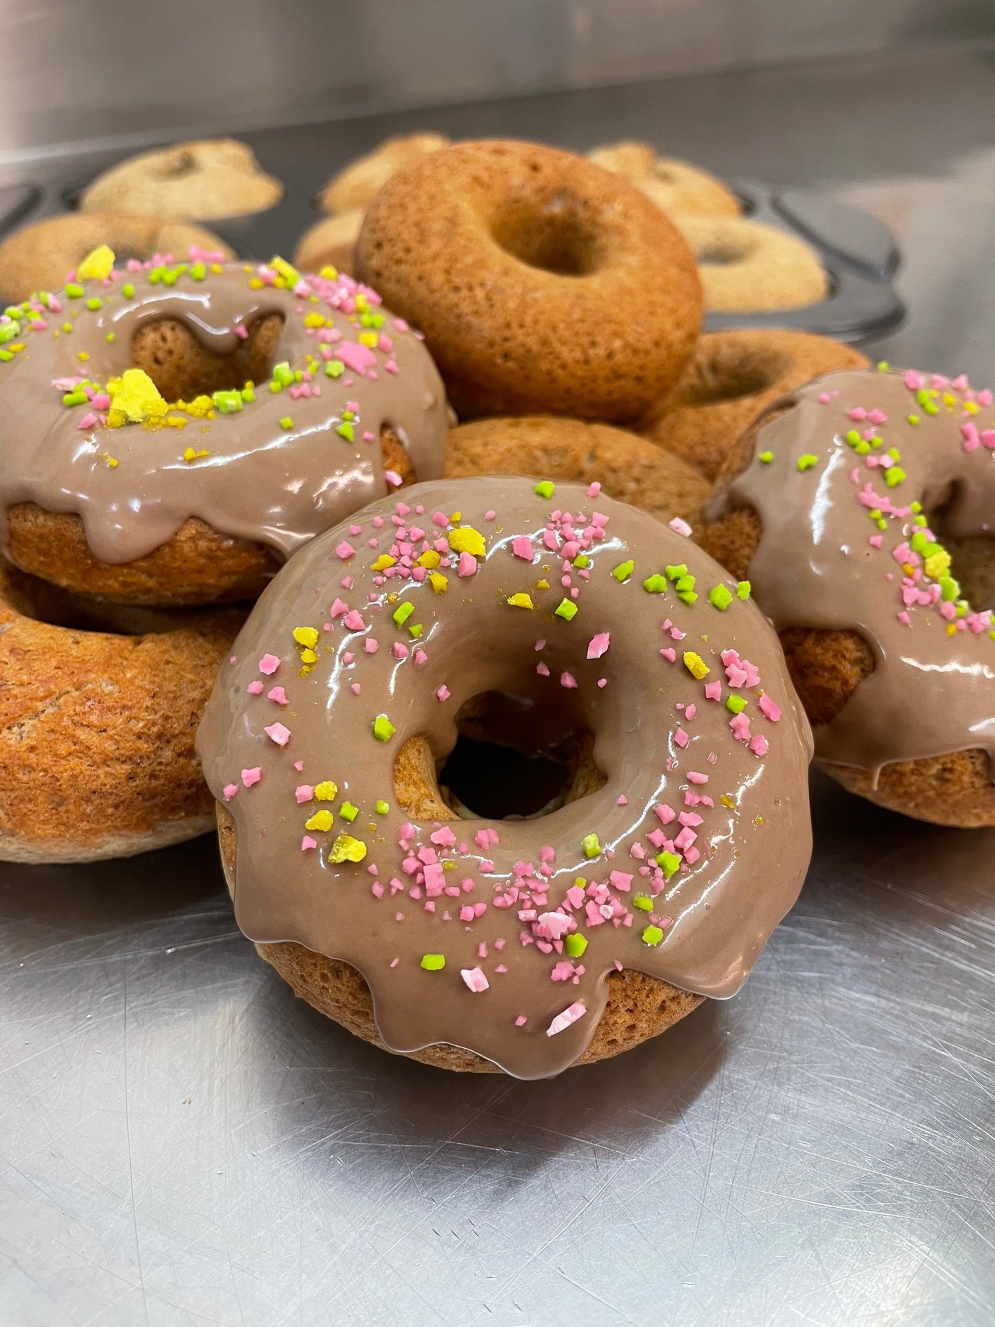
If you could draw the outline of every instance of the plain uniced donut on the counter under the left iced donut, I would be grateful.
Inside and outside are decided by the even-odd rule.
[[[0,860],[127,857],[204,833],[194,731],[243,618],[107,622],[106,605],[0,560]]]

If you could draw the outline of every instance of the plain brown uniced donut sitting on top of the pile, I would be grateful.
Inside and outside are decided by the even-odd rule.
[[[625,422],[700,326],[694,263],[620,175],[533,143],[443,147],[377,194],[357,275],[425,332],[456,414]]]

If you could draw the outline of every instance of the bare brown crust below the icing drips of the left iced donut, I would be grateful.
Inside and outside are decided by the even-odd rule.
[[[414,483],[414,467],[397,434],[381,434],[385,470]],[[44,511],[17,503],[9,514],[8,553],[33,576],[78,594],[100,594],[121,604],[226,604],[257,598],[280,569],[280,559],[263,544],[231,539],[198,516],[172,539],[130,563],[105,563],[86,541],[82,519],[73,512]]]

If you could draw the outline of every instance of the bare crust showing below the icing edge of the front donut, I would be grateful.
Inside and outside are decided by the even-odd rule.
[[[452,812],[446,809],[448,819]],[[220,804],[218,804],[218,836],[226,880],[233,897],[237,832],[235,820]],[[256,945],[256,951],[280,973],[298,999],[306,1001],[318,1013],[341,1023],[365,1042],[389,1050],[383,1046],[373,1018],[370,989],[350,963],[325,958],[324,954],[314,954],[297,943]],[[630,970],[613,973],[608,978],[608,985],[605,1013],[590,1044],[574,1062],[576,1064],[590,1064],[631,1050],[650,1036],[665,1032],[702,1003],[700,995],[693,995],[667,982]],[[411,1051],[406,1058],[460,1072],[500,1072],[496,1064],[482,1055],[440,1043]]]

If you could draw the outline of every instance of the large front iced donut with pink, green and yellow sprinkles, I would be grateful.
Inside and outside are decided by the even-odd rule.
[[[739,989],[805,873],[776,636],[590,492],[444,479],[364,508],[263,593],[198,730],[241,930],[427,1063],[545,1078],[637,1044]]]

